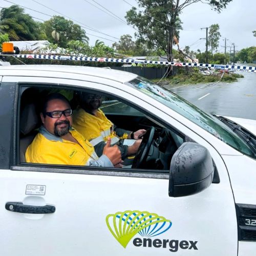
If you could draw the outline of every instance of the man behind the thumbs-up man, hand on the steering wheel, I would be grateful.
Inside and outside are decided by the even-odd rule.
[[[146,133],[146,130],[141,129],[132,132],[117,128],[99,109],[102,103],[101,95],[81,92],[79,98],[80,109],[74,111],[73,126],[84,138],[90,141],[98,156],[103,153],[108,138],[111,138],[112,145],[118,145],[122,160],[137,153],[141,143],[140,138]],[[123,139],[134,140],[128,146],[123,145]],[[131,164],[131,161],[126,159],[124,164]]]

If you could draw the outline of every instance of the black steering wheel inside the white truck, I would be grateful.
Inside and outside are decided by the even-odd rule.
[[[154,139],[155,127],[151,126],[150,129],[147,130],[146,134],[143,135],[143,139],[140,143],[138,151],[133,160],[132,168],[142,168],[148,153],[150,152],[150,147]]]

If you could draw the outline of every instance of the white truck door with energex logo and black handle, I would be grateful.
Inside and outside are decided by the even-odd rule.
[[[218,152],[205,138],[150,104],[146,96],[136,97],[112,87],[113,83],[117,82],[3,78],[1,255],[236,255],[234,201]],[[175,127],[207,147],[220,183],[212,183],[195,195],[172,198],[168,196],[167,172],[20,163],[20,88],[57,85],[111,92],[142,113]]]

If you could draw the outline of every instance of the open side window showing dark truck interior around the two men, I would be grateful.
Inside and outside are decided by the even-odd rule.
[[[27,88],[23,87],[22,91],[23,93],[20,100],[19,155],[20,163],[29,164],[26,162],[25,153],[28,146],[38,134],[41,126],[39,116],[40,108],[38,105],[41,99],[46,97],[49,93],[59,92],[70,100],[73,111],[77,111],[81,108],[78,97],[80,91],[67,89],[60,90],[54,88],[49,90],[49,88],[36,86]],[[88,93],[99,94],[97,91],[88,91]],[[124,102],[113,95],[103,94],[100,110],[105,114],[106,118],[113,123],[113,127],[125,130],[127,133],[135,132],[140,129],[147,131],[146,135],[143,136],[141,143],[144,147],[141,147],[138,150],[140,155],[138,156],[138,154],[133,154],[132,156],[127,156],[127,158],[130,159],[130,162],[129,164],[124,165],[122,169],[131,170],[133,168],[137,168],[142,171],[153,169],[157,170],[159,173],[167,172],[169,170],[172,156],[184,142],[184,138],[178,135],[178,133],[167,129],[163,124],[155,121],[152,117],[147,116],[145,111],[140,111],[137,106],[135,108],[132,104],[129,104],[129,102]],[[111,127],[111,129],[113,127]],[[118,134],[118,131],[116,131],[116,134]],[[151,135],[151,138],[147,135]],[[116,144],[123,143],[124,145],[132,145],[131,143],[124,143],[124,140],[129,140],[129,138],[122,138],[120,135],[117,136],[120,137],[120,141]],[[90,140],[90,143],[93,145],[92,140]],[[146,150],[145,147],[147,147]],[[146,152],[146,157],[144,156],[145,154],[142,154],[143,152]],[[100,157],[100,154],[98,154],[98,156]],[[140,161],[142,156],[143,161]],[[138,164],[133,165],[134,159],[136,159]],[[60,166],[63,167],[61,164]],[[90,166],[83,166],[83,168],[90,168]],[[112,170],[115,169],[113,168]]]

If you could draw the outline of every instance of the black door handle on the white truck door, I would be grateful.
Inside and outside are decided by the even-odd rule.
[[[23,212],[24,214],[53,214],[55,206],[26,205],[19,202],[7,202],[5,208],[10,211]]]

